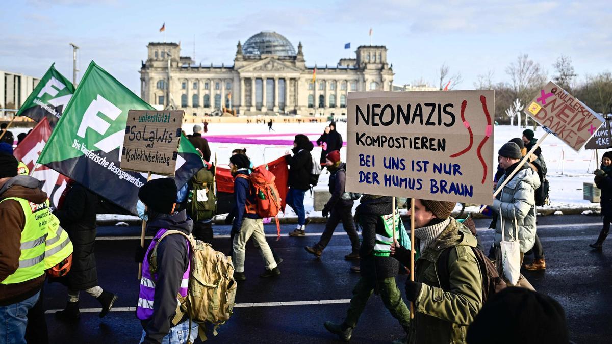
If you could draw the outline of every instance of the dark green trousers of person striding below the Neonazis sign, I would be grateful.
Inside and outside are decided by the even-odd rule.
[[[351,327],[357,325],[357,320],[362,312],[364,312],[365,304],[367,304],[370,295],[374,291],[376,280],[361,277],[357,285],[353,289],[353,297],[351,298],[351,306],[346,311],[345,324]],[[381,294],[381,299],[385,307],[391,315],[400,321],[401,327],[408,331],[410,311],[406,304],[401,299],[400,290],[395,284],[395,278],[378,280],[378,290]]]

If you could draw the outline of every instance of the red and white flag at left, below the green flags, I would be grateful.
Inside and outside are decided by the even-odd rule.
[[[51,205],[57,208],[59,197],[62,195],[70,179],[64,176],[64,174],[51,170],[47,166],[36,165],[36,160],[38,160],[40,152],[45,144],[47,144],[49,136],[51,136],[51,127],[48,119],[45,117],[15,148],[13,155],[15,155],[17,160],[28,166],[32,177],[45,182],[42,190],[47,193]],[[34,167],[36,168],[32,171]]]

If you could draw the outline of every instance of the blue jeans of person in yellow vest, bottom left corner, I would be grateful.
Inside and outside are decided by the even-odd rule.
[[[16,304],[0,306],[0,343],[26,343],[28,311],[40,297],[40,291]]]

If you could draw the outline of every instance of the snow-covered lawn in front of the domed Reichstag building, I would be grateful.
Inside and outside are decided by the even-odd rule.
[[[193,124],[184,125],[186,133],[192,132]],[[266,144],[266,140],[287,140],[291,142],[294,135],[304,133],[315,141],[321,133],[323,133],[325,125],[315,123],[302,124],[284,124],[275,122],[274,132],[269,132],[265,124],[209,124],[206,136],[239,136],[240,138],[252,138],[262,140],[263,144],[231,144],[231,143],[215,143],[211,142],[211,151],[213,152],[211,160],[216,159],[218,165],[227,165],[230,161],[231,151],[236,148],[246,148],[247,155],[252,159],[253,164],[259,165],[264,162],[270,162],[284,155],[285,151],[291,149],[292,146],[278,146]],[[29,129],[13,128],[11,129],[17,137],[20,132],[27,132]],[[346,124],[338,122],[337,130],[346,140]],[[497,152],[502,144],[506,143],[513,137],[521,137],[523,129],[518,127],[510,127],[509,125],[496,126],[494,129],[494,151]],[[283,135],[284,134],[284,135]],[[535,136],[541,137],[544,135],[542,129],[535,130]],[[211,141],[214,140],[211,138]],[[226,141],[226,140],[225,140]],[[551,204],[545,209],[567,209],[567,208],[592,208],[599,209],[599,204],[590,203],[583,200],[583,182],[592,182],[592,171],[597,168],[595,162],[594,151],[583,150],[579,153],[566,146],[561,140],[555,136],[548,136],[545,142],[542,143],[542,154],[547,161],[548,180],[550,181],[550,198]],[[600,152],[603,154],[603,152]],[[315,146],[312,152],[313,156],[321,155],[321,148]],[[346,161],[346,149],[342,149],[341,157]],[[496,159],[496,156],[493,158]],[[322,174],[319,180],[319,185],[316,189],[327,189],[327,181],[329,174]],[[320,212],[313,211],[313,199],[310,193],[307,193],[305,198],[305,208],[308,214],[312,216],[321,215]],[[468,211],[477,211],[476,209],[468,208]],[[287,216],[294,217],[295,214],[291,209],[288,210]],[[115,215],[103,215],[105,219],[120,219]],[[123,219],[124,217],[121,217]]]

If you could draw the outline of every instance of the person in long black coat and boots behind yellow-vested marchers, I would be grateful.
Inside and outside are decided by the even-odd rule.
[[[98,196],[83,185],[71,181],[64,192],[64,200],[53,214],[70,236],[74,247],[72,268],[62,282],[68,287],[68,304],[61,312],[55,313],[62,320],[76,320],[79,317],[79,292],[86,291],[102,305],[100,318],[105,316],[117,299],[116,294],[102,290],[98,285],[98,271],[95,263],[95,220]]]

